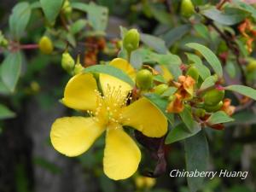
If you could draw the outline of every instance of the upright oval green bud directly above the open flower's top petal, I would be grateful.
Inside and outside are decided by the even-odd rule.
[[[125,33],[123,39],[123,45],[128,52],[131,52],[138,48],[140,42],[140,33],[137,32],[137,29],[131,29]]]

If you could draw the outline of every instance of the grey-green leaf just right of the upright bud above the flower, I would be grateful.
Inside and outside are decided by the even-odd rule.
[[[166,48],[166,43],[163,39],[145,33],[141,33],[140,38],[144,44],[154,49],[156,52],[160,54],[166,54],[168,52],[168,49]]]

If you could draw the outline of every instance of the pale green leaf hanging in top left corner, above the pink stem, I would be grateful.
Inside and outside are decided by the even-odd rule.
[[[14,38],[20,39],[30,19],[31,7],[29,3],[17,3],[9,16],[9,29]]]

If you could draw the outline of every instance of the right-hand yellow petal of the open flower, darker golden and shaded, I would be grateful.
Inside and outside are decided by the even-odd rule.
[[[130,125],[148,137],[162,137],[167,131],[167,119],[145,97],[123,110],[123,124]]]

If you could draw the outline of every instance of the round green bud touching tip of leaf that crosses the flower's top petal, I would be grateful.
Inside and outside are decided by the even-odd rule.
[[[153,74],[147,69],[142,69],[136,76],[137,87],[141,90],[149,90],[153,84]]]

